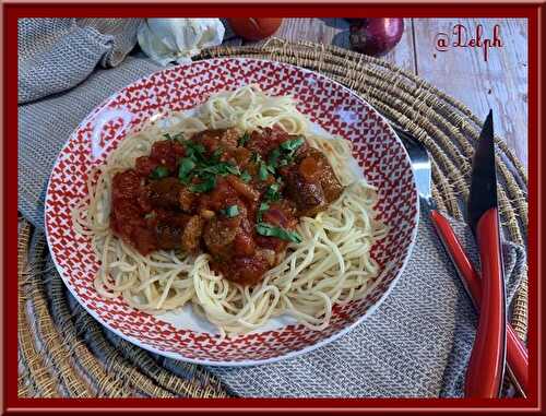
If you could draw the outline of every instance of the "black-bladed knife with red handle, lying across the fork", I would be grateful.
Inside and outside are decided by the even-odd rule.
[[[474,154],[467,216],[479,247],[482,306],[464,392],[467,397],[498,397],[505,375],[507,312],[492,111],[485,120]]]

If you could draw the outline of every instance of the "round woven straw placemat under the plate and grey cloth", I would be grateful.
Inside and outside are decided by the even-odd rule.
[[[432,194],[441,210],[463,219],[480,120],[419,78],[379,59],[334,46],[272,38],[263,46],[217,47],[198,59],[253,57],[297,64],[352,88],[393,123],[412,132],[432,159]],[[500,139],[497,166],[505,238],[526,246],[525,169]],[[224,397],[218,380],[201,367],[173,368],[114,338],[69,296],[50,261],[43,233],[19,224],[19,395]],[[511,306],[517,333],[527,331],[527,280]]]

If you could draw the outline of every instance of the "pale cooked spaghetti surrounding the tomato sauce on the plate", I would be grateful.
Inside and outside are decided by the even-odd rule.
[[[240,131],[280,126],[304,134],[322,151],[345,187],[342,195],[316,217],[301,217],[301,242],[253,286],[241,286],[213,272],[210,255],[159,250],[149,255],[117,238],[109,226],[112,177],[134,166],[164,134],[185,138],[206,129]],[[254,85],[209,98],[192,114],[173,114],[169,122],[150,122],[128,135],[106,163],[88,176],[88,195],[73,209],[78,233],[90,238],[100,260],[94,285],[105,298],[122,298],[133,308],[162,313],[191,304],[217,326],[222,336],[256,330],[273,317],[288,314],[313,330],[328,326],[332,308],[363,298],[378,276],[370,257],[387,227],[375,219],[376,189],[351,169],[351,143],[311,132],[306,117],[288,96],[268,96]]]

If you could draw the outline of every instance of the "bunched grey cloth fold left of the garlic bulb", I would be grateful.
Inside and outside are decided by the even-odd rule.
[[[141,19],[20,19],[19,103],[69,90],[136,45]]]

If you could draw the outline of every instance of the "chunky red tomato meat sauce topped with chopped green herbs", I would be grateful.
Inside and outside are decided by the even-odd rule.
[[[110,227],[143,255],[207,252],[214,271],[250,285],[300,241],[298,217],[324,210],[342,190],[302,136],[206,130],[156,142],[115,175]]]

